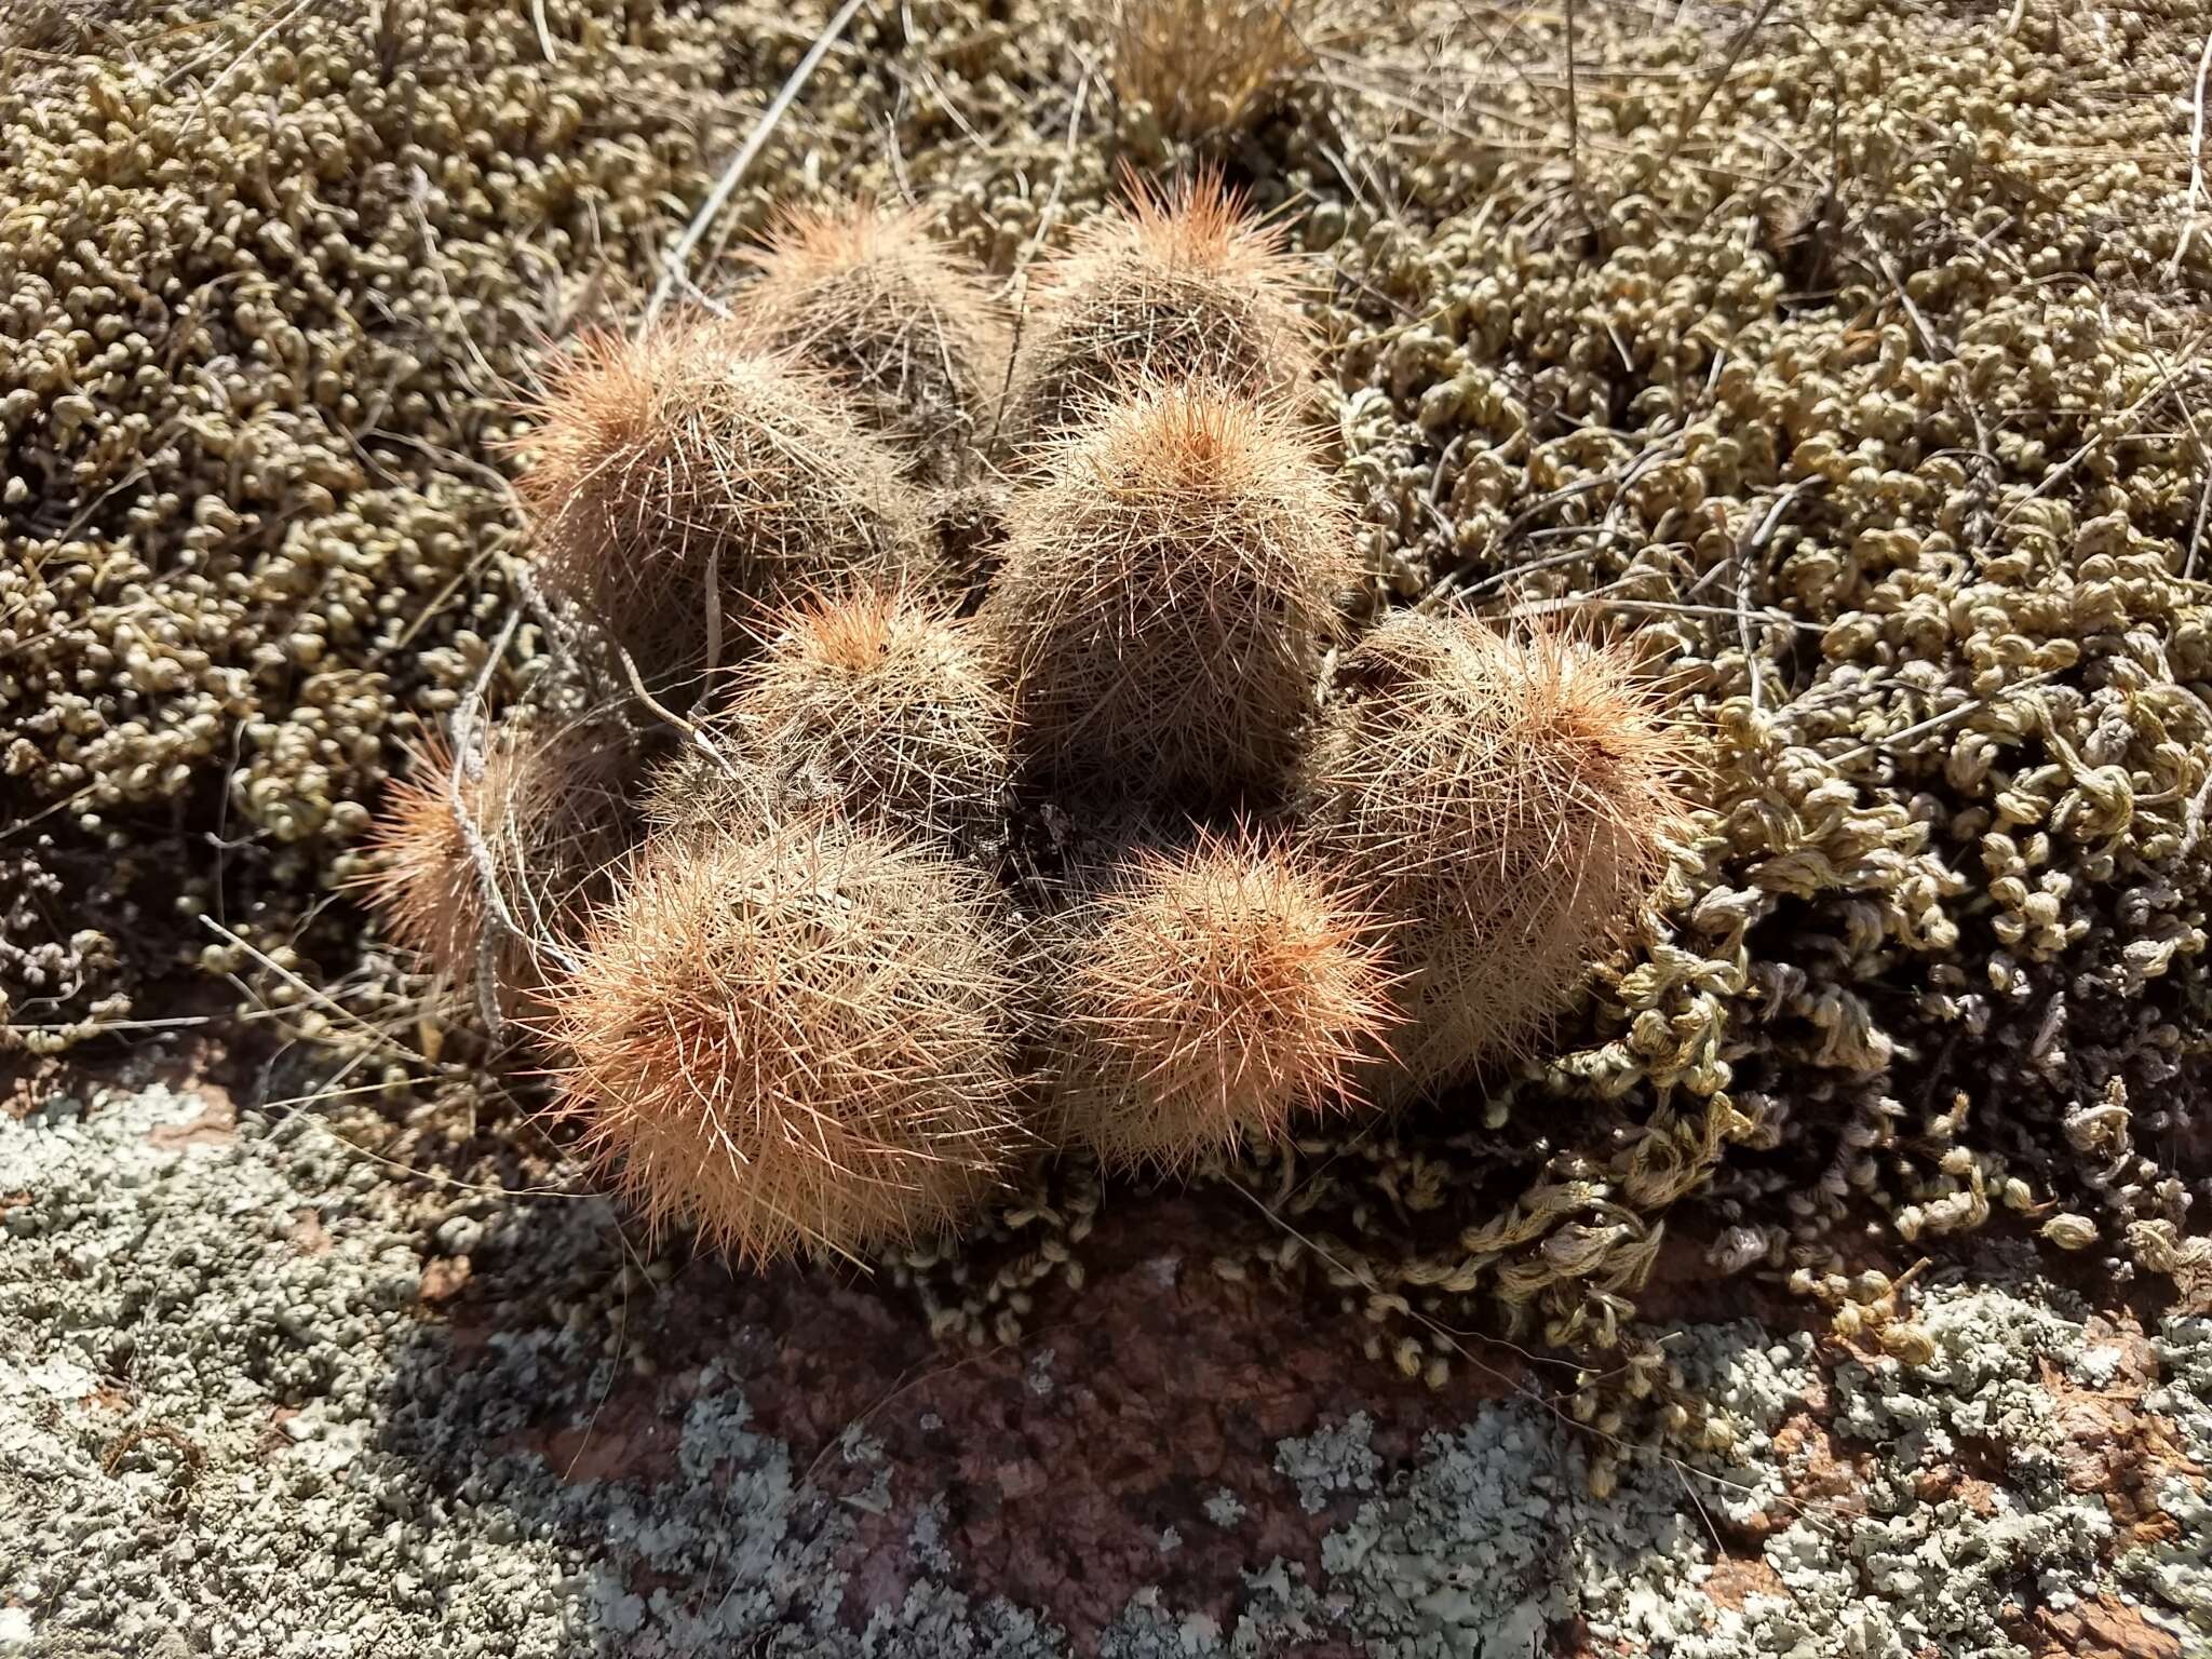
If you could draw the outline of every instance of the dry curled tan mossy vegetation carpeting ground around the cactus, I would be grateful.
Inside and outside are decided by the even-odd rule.
[[[276,40],[108,11],[93,53],[18,42],[0,77],[9,1033],[155,1018],[137,987],[197,958],[288,1031],[398,1042],[420,984],[319,891],[480,686],[573,714],[509,626],[513,403],[549,336],[664,276],[670,204],[708,197],[821,15],[332,7]],[[1079,234],[1137,299],[1093,338],[1161,361],[1168,276],[1115,173],[1225,166],[1272,274],[1177,349],[1250,374],[1318,323],[1365,604],[1582,617],[1710,732],[1683,860],[1544,1053],[1447,1115],[1194,1172],[1312,1243],[1232,1270],[1409,1374],[1475,1325],[1601,1354],[1608,1425],[1663,1394],[1632,1334],[1663,1245],[1863,1305],[1902,1352],[1896,1276],[1980,1230],[2203,1298],[2201,51],[2188,0],[1451,0],[1314,40],[1203,142],[1026,0],[863,9],[821,55],[706,252],[794,195],[911,197],[1044,363],[1088,290],[1040,261],[1110,226]],[[1009,467],[1064,418],[1022,407]],[[385,1062],[396,1115],[451,1079]],[[1024,1170],[1020,1228],[883,1276],[1004,1334],[1077,1279],[1093,1183]]]

